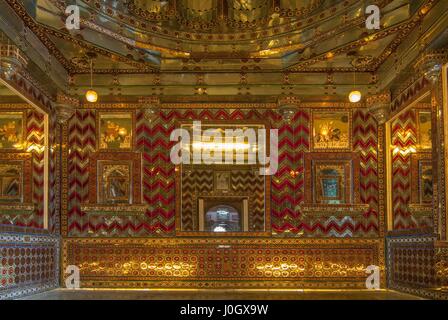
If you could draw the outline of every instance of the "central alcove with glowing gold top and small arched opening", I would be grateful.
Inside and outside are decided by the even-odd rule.
[[[270,228],[270,156],[267,124],[180,124],[175,156],[176,233],[267,235]],[[173,156],[173,154],[172,154]]]

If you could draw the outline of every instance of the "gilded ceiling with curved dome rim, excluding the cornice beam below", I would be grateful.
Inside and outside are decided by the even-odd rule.
[[[371,71],[409,31],[403,24],[412,16],[409,1],[375,1],[382,29],[369,32],[359,0],[85,0],[77,1],[81,30],[68,32],[65,9],[72,1],[34,2],[27,13],[78,72],[89,50],[107,57],[96,69],[110,69],[112,60],[113,69],[128,72]]]

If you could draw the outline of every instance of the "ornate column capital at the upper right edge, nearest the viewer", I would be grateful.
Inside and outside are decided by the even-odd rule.
[[[434,50],[425,52],[416,62],[415,69],[426,79],[436,84],[440,79],[442,66],[448,61],[448,50]]]

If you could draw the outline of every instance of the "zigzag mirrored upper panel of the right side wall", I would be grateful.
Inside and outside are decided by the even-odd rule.
[[[394,230],[433,226],[431,106],[401,113],[391,123]]]

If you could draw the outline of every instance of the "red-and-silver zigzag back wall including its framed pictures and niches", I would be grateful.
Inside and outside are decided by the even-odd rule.
[[[174,145],[170,133],[180,121],[192,120],[268,121],[279,130],[279,169],[272,177],[268,199],[273,236],[380,235],[384,213],[379,198],[378,139],[382,132],[364,110],[303,108],[286,121],[271,109],[214,106],[165,109],[149,122],[132,105],[119,112],[112,108],[79,109],[67,125],[68,198],[63,232],[68,236],[174,236],[179,195],[170,161]],[[108,163],[101,162],[106,158]],[[114,163],[119,166],[110,171]],[[104,175],[106,171],[113,174]],[[315,179],[308,184],[311,176]],[[102,185],[97,181],[103,181]],[[105,185],[113,185],[118,192],[113,193],[120,196],[110,197]],[[118,212],[112,205],[117,202],[129,205]]]

